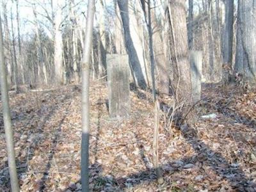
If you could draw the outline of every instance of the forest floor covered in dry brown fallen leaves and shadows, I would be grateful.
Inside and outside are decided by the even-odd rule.
[[[124,119],[109,119],[107,96],[106,83],[92,82],[93,191],[256,191],[255,91],[204,86],[194,124],[182,129],[166,126],[161,113],[161,185],[152,164],[150,93],[131,92]],[[10,94],[10,106],[21,190],[81,191],[81,88]],[[10,191],[2,115],[0,191]]]

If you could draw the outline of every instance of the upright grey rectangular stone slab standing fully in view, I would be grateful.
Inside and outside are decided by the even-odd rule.
[[[109,116],[128,116],[130,112],[129,58],[127,54],[107,54]]]

